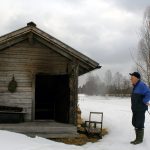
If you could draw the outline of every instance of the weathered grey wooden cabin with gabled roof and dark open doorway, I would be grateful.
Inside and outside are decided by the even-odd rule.
[[[0,122],[14,113],[24,122],[54,120],[75,125],[78,76],[97,68],[97,62],[33,22],[1,36]]]

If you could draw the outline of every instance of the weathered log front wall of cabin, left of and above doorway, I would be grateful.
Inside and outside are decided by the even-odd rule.
[[[0,51],[0,105],[23,107],[25,120],[33,119],[35,75],[37,73],[66,74],[68,60],[43,44],[21,42]],[[15,77],[17,91],[8,91]],[[71,121],[73,122],[73,121]]]

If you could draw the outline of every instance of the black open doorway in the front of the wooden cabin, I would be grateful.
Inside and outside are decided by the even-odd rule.
[[[69,121],[69,76],[36,75],[35,120]]]

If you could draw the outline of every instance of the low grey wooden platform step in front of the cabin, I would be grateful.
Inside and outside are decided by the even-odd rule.
[[[31,137],[66,138],[77,137],[75,125],[57,122],[26,122],[17,124],[0,124],[0,130],[22,133]]]

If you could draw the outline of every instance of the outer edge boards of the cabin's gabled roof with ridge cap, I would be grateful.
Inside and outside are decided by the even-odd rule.
[[[47,34],[46,32],[40,30],[36,27],[36,25],[31,22],[28,23],[26,27],[18,29],[16,31],[13,31],[9,34],[6,34],[4,36],[0,37],[0,49],[3,49],[5,45],[7,46],[9,43],[11,44],[11,40],[21,37],[22,35],[28,34],[29,32],[32,32],[36,34],[37,36],[40,36],[42,39],[46,40],[47,42],[50,42],[54,44],[55,46],[59,47],[62,51],[65,53],[71,55],[73,58],[77,59],[79,62],[87,66],[86,71],[83,73],[87,73],[89,71],[92,71],[94,69],[100,69],[101,66],[99,66],[99,63],[92,60],[91,58],[85,56],[84,54],[78,52],[77,50],[73,49],[72,47],[66,45],[65,43],[59,41],[58,39],[52,37],[51,35]],[[21,40],[21,39],[20,39]],[[18,40],[18,42],[20,41]],[[22,39],[23,40],[23,39]]]

